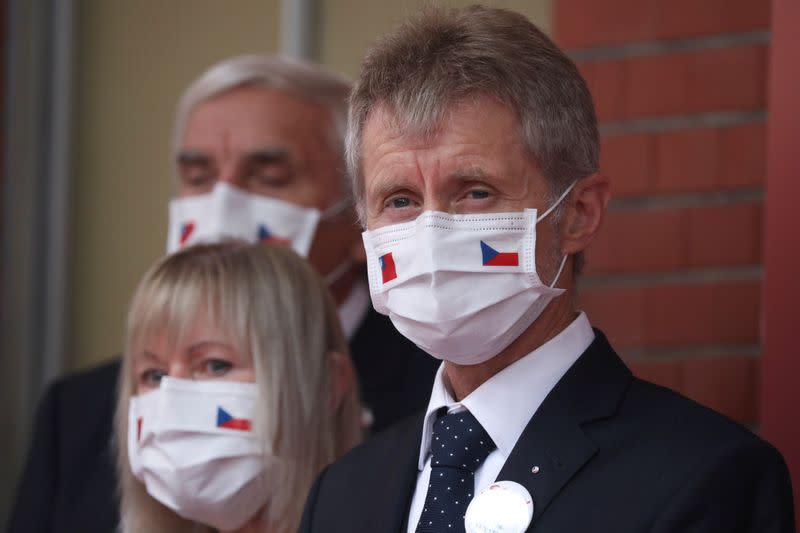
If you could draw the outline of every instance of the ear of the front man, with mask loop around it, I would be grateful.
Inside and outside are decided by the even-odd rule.
[[[611,185],[604,174],[594,173],[578,181],[567,197],[561,222],[561,251],[576,254],[589,247],[603,222],[611,198]]]

